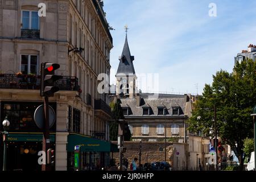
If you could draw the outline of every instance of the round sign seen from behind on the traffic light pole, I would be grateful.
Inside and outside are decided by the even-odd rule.
[[[35,113],[34,113],[34,120],[36,123],[36,126],[39,127],[39,129],[44,128],[44,106],[40,105],[38,108],[36,108]],[[49,106],[49,128],[53,126],[55,122],[55,111],[52,109],[51,106]]]

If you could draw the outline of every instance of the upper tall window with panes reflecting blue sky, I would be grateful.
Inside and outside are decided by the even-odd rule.
[[[38,11],[22,11],[22,29],[40,30]]]

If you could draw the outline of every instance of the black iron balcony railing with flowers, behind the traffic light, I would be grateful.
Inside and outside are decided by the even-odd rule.
[[[40,75],[16,75],[0,73],[1,89],[40,89]],[[70,90],[80,92],[78,78],[75,76],[63,76],[62,79],[56,81],[56,85],[60,90]]]

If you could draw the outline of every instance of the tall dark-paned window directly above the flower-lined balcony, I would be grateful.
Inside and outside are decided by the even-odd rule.
[[[22,55],[21,71],[24,75],[27,75],[28,73],[38,74],[38,56]]]

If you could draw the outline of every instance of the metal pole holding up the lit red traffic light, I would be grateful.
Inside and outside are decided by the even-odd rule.
[[[49,149],[49,101],[48,97],[44,97],[44,134],[43,134],[43,151],[46,152]],[[46,155],[47,156],[47,155]],[[49,171],[49,164],[42,164],[42,171]]]

